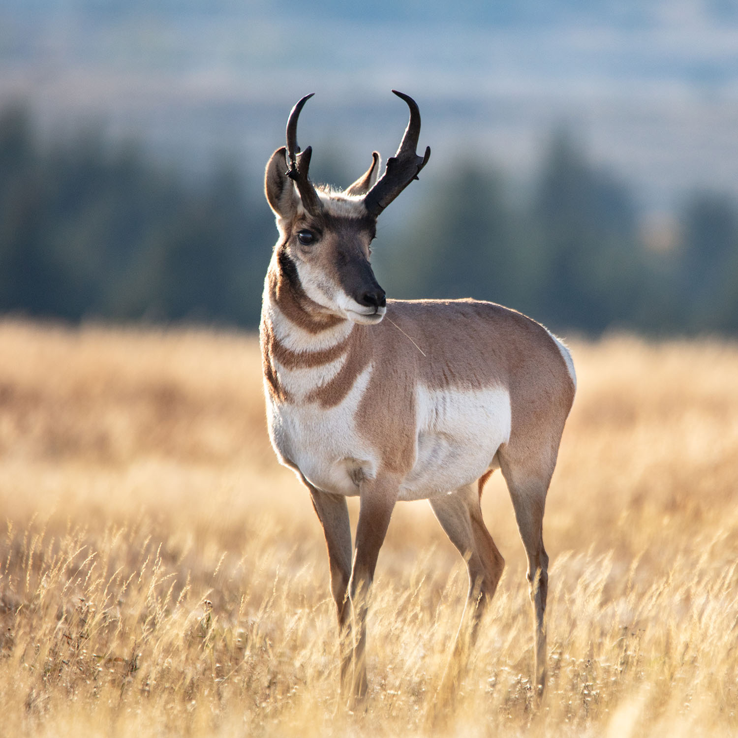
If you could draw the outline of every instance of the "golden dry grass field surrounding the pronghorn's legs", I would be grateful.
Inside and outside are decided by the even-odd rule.
[[[400,503],[351,714],[320,525],[266,439],[255,337],[0,323],[0,735],[738,734],[738,345],[573,355],[544,702],[498,474],[483,511],[507,568],[454,702],[435,692],[466,570],[427,503]]]

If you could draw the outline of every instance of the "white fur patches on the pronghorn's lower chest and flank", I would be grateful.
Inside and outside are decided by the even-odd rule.
[[[356,431],[354,416],[371,368],[336,407],[267,404],[269,435],[280,461],[294,466],[325,492],[359,494],[362,478],[372,479],[381,452]],[[510,398],[503,388],[430,390],[415,393],[415,453],[402,480],[399,500],[422,500],[477,480],[494,466],[500,444],[510,438]]]

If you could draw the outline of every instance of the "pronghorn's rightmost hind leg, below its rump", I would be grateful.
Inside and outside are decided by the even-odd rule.
[[[508,466],[501,459],[503,475],[515,510],[515,520],[528,558],[528,592],[535,621],[535,677],[540,697],[546,682],[545,610],[548,596],[548,554],[543,546],[543,512],[551,472],[533,474]]]

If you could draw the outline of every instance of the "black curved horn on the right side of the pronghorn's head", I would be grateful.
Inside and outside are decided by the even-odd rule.
[[[387,159],[382,179],[379,179],[364,198],[364,206],[375,218],[410,182],[413,182],[413,179],[418,179],[418,173],[430,159],[430,146],[426,148],[424,156],[418,156],[415,151],[420,137],[420,111],[417,103],[410,95],[397,90],[392,92],[407,103],[407,107],[410,108],[410,121],[407,123],[397,153]]]

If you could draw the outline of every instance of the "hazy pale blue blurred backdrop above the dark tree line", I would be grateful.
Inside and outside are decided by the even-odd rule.
[[[306,92],[303,140],[352,165],[387,156],[406,117],[393,87],[421,104],[437,174],[463,155],[524,179],[565,124],[652,209],[695,185],[738,193],[737,1],[0,9],[0,102],[26,97],[47,130],[92,117],[195,166],[234,155],[261,176]]]

